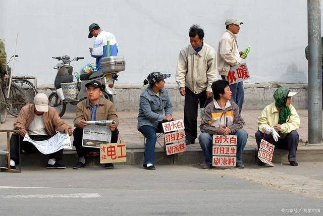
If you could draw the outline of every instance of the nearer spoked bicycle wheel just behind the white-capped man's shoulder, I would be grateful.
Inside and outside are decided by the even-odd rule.
[[[9,87],[6,88],[5,97],[7,96]],[[11,84],[9,98],[7,99],[7,111],[11,115],[17,117],[21,108],[28,104],[28,99],[24,91],[16,84]]]

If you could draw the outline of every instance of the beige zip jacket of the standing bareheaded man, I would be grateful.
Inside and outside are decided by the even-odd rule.
[[[195,52],[190,44],[181,50],[175,76],[178,88],[186,86],[194,94],[212,92],[217,76],[216,51],[212,47],[203,43],[202,50]]]

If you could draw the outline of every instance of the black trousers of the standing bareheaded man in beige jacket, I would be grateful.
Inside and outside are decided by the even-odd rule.
[[[206,99],[206,90],[199,94],[194,94],[189,88],[185,87],[185,103],[184,103],[184,126],[186,140],[194,143],[197,137],[197,114],[198,103],[200,108],[204,107],[212,101],[212,97]],[[206,101],[206,103],[205,103]]]

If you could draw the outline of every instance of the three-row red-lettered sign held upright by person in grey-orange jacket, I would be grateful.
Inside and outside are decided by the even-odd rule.
[[[237,136],[213,135],[212,166],[235,167],[237,165]]]

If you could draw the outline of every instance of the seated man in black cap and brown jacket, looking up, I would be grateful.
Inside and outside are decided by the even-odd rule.
[[[101,121],[101,120],[113,120],[114,123],[110,125],[111,143],[118,141],[118,125],[119,119],[115,112],[114,105],[111,101],[101,97],[104,90],[104,85],[100,82],[93,80],[86,83],[87,99],[82,100],[76,105],[76,116],[74,119],[73,131],[74,141],[77,155],[79,156],[79,162],[73,167],[73,169],[82,169],[85,167],[85,154],[89,151],[99,151],[99,148],[82,147],[83,128],[86,126],[87,121]],[[104,164],[104,168],[112,169],[114,165],[111,163]]]

